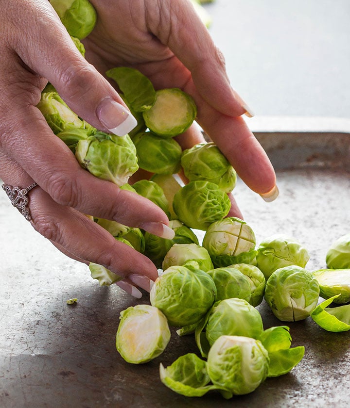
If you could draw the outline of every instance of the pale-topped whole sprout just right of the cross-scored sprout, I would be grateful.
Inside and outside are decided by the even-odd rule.
[[[310,259],[307,249],[295,238],[275,234],[265,238],[259,245],[256,255],[257,267],[268,279],[276,269],[289,265],[304,268]]]

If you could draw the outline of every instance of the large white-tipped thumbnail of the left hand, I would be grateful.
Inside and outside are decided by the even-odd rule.
[[[117,136],[124,136],[137,125],[135,117],[112,98],[105,98],[96,109],[100,122]]]

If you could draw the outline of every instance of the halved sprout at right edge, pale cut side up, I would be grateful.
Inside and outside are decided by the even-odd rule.
[[[313,275],[318,280],[320,296],[324,299],[338,294],[334,303],[350,302],[350,269],[319,269]]]

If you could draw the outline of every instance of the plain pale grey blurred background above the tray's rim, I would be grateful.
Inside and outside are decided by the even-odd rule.
[[[257,117],[350,119],[349,0],[214,0],[203,7],[232,86]]]

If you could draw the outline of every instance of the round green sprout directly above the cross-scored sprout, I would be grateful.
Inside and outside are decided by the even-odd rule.
[[[230,208],[227,194],[209,181],[190,181],[175,193],[173,201],[178,219],[190,228],[201,230],[223,219]]]

